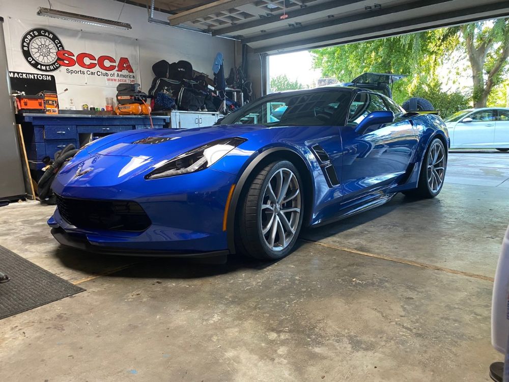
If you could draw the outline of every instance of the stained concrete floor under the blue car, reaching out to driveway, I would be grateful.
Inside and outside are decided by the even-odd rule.
[[[60,248],[53,208],[0,209],[0,244],[87,289],[2,320],[15,381],[488,381],[509,154],[451,153],[434,200],[309,230],[276,263]],[[504,185],[505,184],[505,185]],[[117,271],[115,271],[117,270]]]

